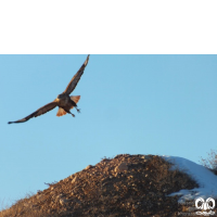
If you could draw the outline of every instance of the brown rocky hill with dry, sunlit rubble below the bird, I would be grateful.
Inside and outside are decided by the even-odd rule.
[[[157,155],[117,155],[87,166],[37,194],[17,201],[0,217],[140,217],[194,215],[168,196],[197,183]],[[216,212],[217,213],[217,212]]]

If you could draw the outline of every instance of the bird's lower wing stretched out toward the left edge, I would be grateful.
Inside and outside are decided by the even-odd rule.
[[[13,124],[13,123],[24,123],[27,122],[28,119],[30,119],[31,117],[37,117],[39,115],[42,115],[51,110],[53,110],[55,106],[58,105],[56,102],[50,102],[47,105],[43,105],[42,107],[38,108],[36,112],[34,112],[33,114],[24,117],[23,119],[18,119],[16,122],[9,122],[8,124]]]

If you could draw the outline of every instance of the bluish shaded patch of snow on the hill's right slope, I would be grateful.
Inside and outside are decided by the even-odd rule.
[[[199,183],[199,188],[187,190],[182,189],[179,192],[171,193],[169,195],[181,195],[179,203],[189,200],[195,200],[197,197],[213,197],[217,199],[217,176],[208,170],[206,167],[191,162],[187,158],[179,156],[162,156],[169,163],[175,164],[171,169],[178,168],[188,174],[192,179]]]

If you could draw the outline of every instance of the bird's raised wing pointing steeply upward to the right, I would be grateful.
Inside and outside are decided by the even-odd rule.
[[[85,63],[81,65],[80,69],[74,75],[74,77],[72,78],[72,80],[69,81],[68,86],[66,87],[66,89],[63,93],[69,94],[71,92],[73,92],[73,90],[77,86],[81,75],[84,74],[84,71],[88,64],[88,61],[89,61],[89,55],[87,56]]]

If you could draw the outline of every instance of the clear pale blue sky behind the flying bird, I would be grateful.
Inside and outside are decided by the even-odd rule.
[[[58,108],[23,118],[62,93],[85,55],[0,55],[0,208],[104,156],[158,154],[199,163],[217,148],[217,55],[90,55]]]

